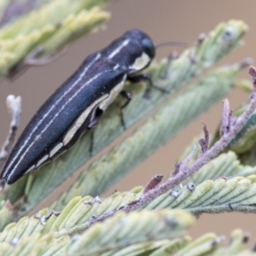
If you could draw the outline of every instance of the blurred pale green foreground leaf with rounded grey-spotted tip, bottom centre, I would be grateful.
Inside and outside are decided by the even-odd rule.
[[[70,247],[69,253],[104,253],[138,242],[181,236],[191,224],[193,218],[182,211],[119,212],[103,224],[95,224],[85,231]]]

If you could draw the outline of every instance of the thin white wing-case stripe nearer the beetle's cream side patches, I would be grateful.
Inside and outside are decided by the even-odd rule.
[[[93,80],[97,79],[97,78],[98,78],[99,76],[101,76],[103,73],[107,73],[107,72],[109,72],[109,70],[105,70],[105,71],[102,72],[102,73],[98,73],[96,76],[94,76],[92,79],[90,79],[87,83],[85,83],[84,86],[86,86],[87,84],[90,84]],[[58,115],[61,113],[61,111],[62,111],[64,108],[66,108],[67,104],[68,104],[69,102],[71,102],[71,101],[73,100],[73,98],[74,98],[75,96],[77,96],[81,90],[84,89],[84,86],[80,87],[79,90],[77,90],[77,91],[73,94],[73,96],[70,97],[70,98],[68,99],[68,101],[65,102],[65,104],[62,105],[60,111],[57,112],[57,113],[55,113],[55,116],[54,116],[52,119],[50,119],[50,121],[49,121],[49,123],[48,123],[47,125],[44,126],[44,129],[41,131],[41,133],[38,135],[38,137],[41,137],[41,135],[44,134],[44,131],[46,131],[46,130],[48,129],[49,125],[51,125],[51,124],[55,121],[55,119],[58,117]],[[33,145],[34,143],[36,143],[36,140],[34,140],[34,141],[26,148],[25,152],[20,156],[20,160],[18,160],[17,164],[14,166],[14,168],[12,169],[12,171],[9,173],[9,178],[11,178],[11,177],[13,176],[13,173],[15,172],[15,169],[17,168],[17,166],[19,166],[20,161],[23,160],[23,158],[25,157],[26,153],[29,151],[29,149],[32,147],[32,145]]]

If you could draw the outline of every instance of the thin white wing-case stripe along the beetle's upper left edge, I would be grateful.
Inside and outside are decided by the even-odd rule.
[[[63,95],[55,102],[55,104],[54,104],[51,108],[49,108],[49,111],[44,114],[43,118],[40,119],[40,121],[38,122],[38,125],[36,125],[35,128],[32,130],[30,136],[28,136],[28,137],[26,138],[26,141],[24,142],[23,146],[20,147],[20,150],[19,150],[18,153],[16,154],[15,158],[9,163],[9,166],[7,166],[7,168],[5,169],[5,172],[3,172],[3,176],[4,176],[7,172],[9,172],[9,168],[13,165],[13,163],[15,162],[15,160],[19,157],[19,154],[20,154],[20,152],[23,150],[23,148],[26,147],[26,144],[29,142],[29,140],[30,140],[30,138],[32,137],[33,133],[38,129],[38,126],[43,123],[44,119],[47,118],[47,116],[49,115],[49,113],[55,108],[55,105],[58,104],[58,103],[61,101],[61,99],[62,99],[64,96],[66,96],[67,93],[68,93],[70,90],[72,90],[73,87],[74,87],[76,84],[79,83],[79,81],[84,77],[84,74],[88,71],[88,69],[89,69],[89,68],[94,64],[94,62],[97,61],[100,57],[101,57],[101,54],[100,54],[100,53],[96,55],[95,59],[92,60],[92,61],[90,62],[90,64],[89,64],[86,68],[84,68],[84,71],[80,74],[79,79],[77,79],[77,80],[73,83],[73,85],[72,85],[68,90],[66,90],[66,91],[63,93]]]

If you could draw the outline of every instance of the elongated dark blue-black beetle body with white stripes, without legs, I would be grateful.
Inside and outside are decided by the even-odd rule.
[[[131,30],[105,49],[89,55],[26,126],[1,178],[15,183],[72,147],[84,131],[97,124],[114,98],[124,92],[125,80],[148,67],[154,54],[151,38]]]

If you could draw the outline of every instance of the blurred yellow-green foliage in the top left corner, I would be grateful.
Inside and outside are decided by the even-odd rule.
[[[0,29],[0,77],[38,47],[50,56],[109,19],[99,9],[108,0],[56,0],[34,9]],[[96,7],[94,7],[96,6]]]

